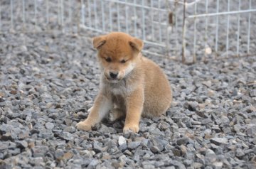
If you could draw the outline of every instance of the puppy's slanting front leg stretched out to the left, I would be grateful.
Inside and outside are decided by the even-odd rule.
[[[99,123],[110,109],[112,109],[111,99],[105,97],[102,93],[98,94],[87,119],[79,122],[76,127],[82,131],[91,130],[92,126]]]

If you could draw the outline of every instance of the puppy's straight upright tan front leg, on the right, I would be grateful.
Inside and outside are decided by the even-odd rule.
[[[143,89],[135,90],[126,98],[127,115],[124,123],[124,133],[129,131],[137,133],[139,131],[139,120],[142,116],[143,104]]]

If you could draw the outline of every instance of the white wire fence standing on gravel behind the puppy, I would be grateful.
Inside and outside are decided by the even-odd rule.
[[[183,62],[255,55],[252,0],[1,0],[0,33],[122,31]]]

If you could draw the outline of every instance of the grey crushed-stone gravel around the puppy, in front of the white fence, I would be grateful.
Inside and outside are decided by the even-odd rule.
[[[25,43],[24,43],[25,42]],[[255,168],[256,58],[182,65],[146,55],[169,77],[165,115],[78,131],[99,86],[90,39],[0,36],[0,168]]]

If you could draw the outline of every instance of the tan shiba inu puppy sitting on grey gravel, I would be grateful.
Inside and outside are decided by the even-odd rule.
[[[124,132],[138,132],[141,116],[159,116],[170,107],[172,94],[166,75],[141,54],[142,40],[113,32],[93,39],[102,75],[100,92],[90,114],[76,127],[89,131],[108,113],[114,121],[125,116]]]

